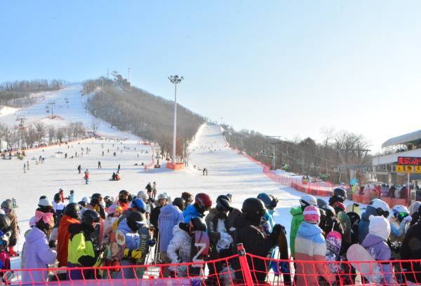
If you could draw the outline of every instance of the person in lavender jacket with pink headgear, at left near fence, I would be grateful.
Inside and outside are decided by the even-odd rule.
[[[35,212],[35,226],[26,236],[22,248],[22,269],[48,268],[57,257],[57,252],[48,245],[48,235],[54,225],[52,212]],[[55,245],[51,245],[55,246]],[[22,271],[22,283],[48,282],[48,271]]]

